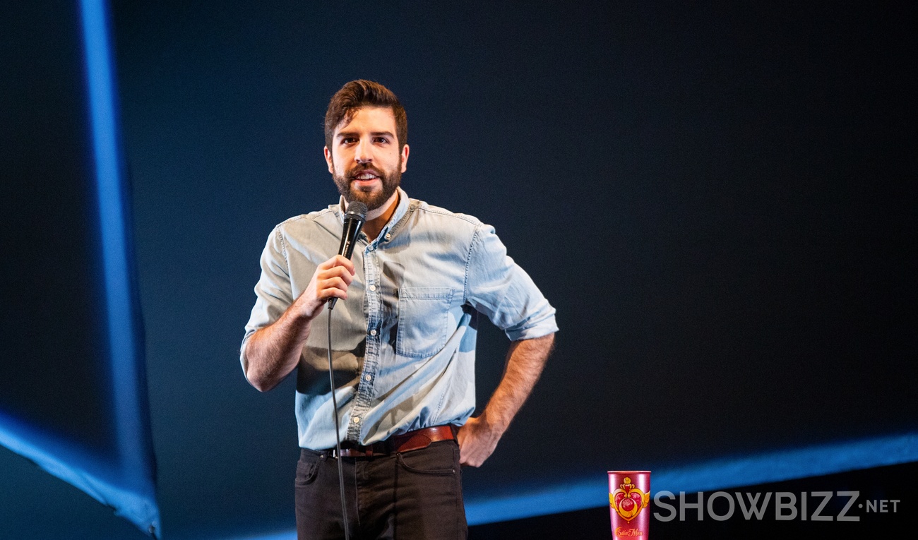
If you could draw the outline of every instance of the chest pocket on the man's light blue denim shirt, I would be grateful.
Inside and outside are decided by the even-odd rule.
[[[449,328],[450,287],[401,287],[398,289],[396,354],[429,357],[446,344]]]

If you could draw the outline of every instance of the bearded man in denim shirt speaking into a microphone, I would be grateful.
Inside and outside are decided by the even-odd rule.
[[[381,84],[353,81],[325,118],[339,204],[287,219],[262,255],[241,347],[245,377],[274,388],[297,369],[297,533],[341,538],[337,461],[354,537],[465,538],[459,467],[479,467],[529,396],[554,340],[554,308],[493,228],[399,187],[408,120]],[[338,252],[347,205],[366,222],[353,262]],[[330,298],[335,396],[328,377]],[[475,343],[484,313],[511,340],[477,418]],[[341,456],[333,414],[341,421]]]

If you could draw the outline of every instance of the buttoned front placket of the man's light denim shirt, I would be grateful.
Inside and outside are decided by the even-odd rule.
[[[364,427],[364,414],[369,411],[373,402],[373,383],[379,368],[380,328],[383,321],[379,268],[376,242],[371,242],[364,248],[364,286],[366,287],[364,294],[364,298],[366,298],[364,307],[366,309],[364,369],[360,373],[357,396],[354,399],[351,422],[347,433],[347,438],[354,441],[362,440],[361,432]]]

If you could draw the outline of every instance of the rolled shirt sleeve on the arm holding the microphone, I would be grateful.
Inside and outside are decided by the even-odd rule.
[[[245,325],[245,337],[242,338],[240,361],[246,366],[245,344],[252,334],[277,321],[284,311],[293,303],[290,286],[290,272],[287,265],[284,237],[280,228],[275,227],[264,245],[261,259],[262,276],[255,284],[255,305],[252,315]]]

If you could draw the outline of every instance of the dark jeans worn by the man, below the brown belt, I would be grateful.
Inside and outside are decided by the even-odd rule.
[[[342,462],[353,540],[464,540],[468,535],[454,441]],[[303,449],[297,462],[299,540],[344,538],[340,492],[338,460]]]

